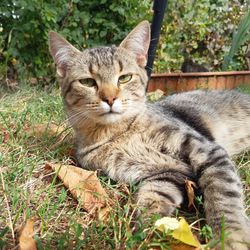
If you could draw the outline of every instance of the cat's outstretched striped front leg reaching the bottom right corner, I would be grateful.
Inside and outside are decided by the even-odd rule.
[[[207,222],[219,237],[224,218],[225,231],[229,234],[226,249],[248,249],[250,227],[242,185],[228,154],[204,137],[190,134],[183,136],[181,145],[180,156],[193,167],[204,194]]]

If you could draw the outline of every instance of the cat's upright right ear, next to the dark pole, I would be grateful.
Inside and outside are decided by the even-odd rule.
[[[148,21],[139,23],[122,41],[120,47],[136,55],[138,65],[145,67],[150,43],[150,25]]]

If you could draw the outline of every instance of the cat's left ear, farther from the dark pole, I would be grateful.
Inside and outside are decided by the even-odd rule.
[[[80,53],[73,45],[54,31],[49,32],[49,50],[57,67],[57,74],[64,77],[68,65],[77,53]]]

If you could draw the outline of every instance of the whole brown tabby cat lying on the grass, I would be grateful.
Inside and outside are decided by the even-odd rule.
[[[118,47],[82,52],[49,33],[78,161],[115,181],[139,183],[137,203],[148,214],[173,214],[185,181],[195,181],[218,237],[224,217],[226,249],[248,249],[250,223],[230,157],[250,146],[250,97],[196,90],[147,103],[149,43],[147,21]]]

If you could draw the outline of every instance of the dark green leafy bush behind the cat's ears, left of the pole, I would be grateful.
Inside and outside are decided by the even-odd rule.
[[[149,0],[140,1],[140,5],[135,0],[2,0],[1,78],[11,77],[8,72],[13,77],[16,71],[24,79],[54,75],[48,53],[49,30],[58,31],[78,48],[119,43],[136,23],[149,16],[150,5]]]

